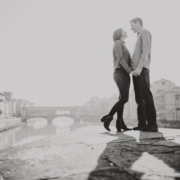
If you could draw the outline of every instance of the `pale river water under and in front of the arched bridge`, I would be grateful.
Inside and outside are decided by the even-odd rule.
[[[87,126],[85,123],[74,123],[69,117],[56,118],[51,123],[46,119],[34,118],[20,127],[0,133],[0,150],[32,142],[51,135],[64,135],[72,129]]]

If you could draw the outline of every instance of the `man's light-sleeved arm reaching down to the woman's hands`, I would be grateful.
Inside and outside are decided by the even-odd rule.
[[[151,50],[151,36],[150,33],[145,30],[142,34],[141,34],[141,40],[142,40],[142,55],[141,58],[139,60],[139,64],[137,66],[137,68],[134,71],[134,74],[140,75],[142,68],[144,66],[144,62],[145,60],[148,58],[148,55],[150,54],[150,50]]]

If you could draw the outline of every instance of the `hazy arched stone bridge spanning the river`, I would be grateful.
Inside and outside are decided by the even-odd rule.
[[[30,118],[44,118],[51,123],[56,117],[68,116],[73,118],[75,122],[80,121],[82,118],[99,121],[101,114],[101,109],[94,106],[28,107],[22,113],[22,119],[26,122]]]

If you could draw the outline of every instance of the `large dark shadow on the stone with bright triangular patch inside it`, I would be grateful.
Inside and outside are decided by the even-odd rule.
[[[180,144],[172,137],[139,131],[137,137],[129,135],[132,131],[102,134],[117,139],[107,143],[88,180],[180,179]]]

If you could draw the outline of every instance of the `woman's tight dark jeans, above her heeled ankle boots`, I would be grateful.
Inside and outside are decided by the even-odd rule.
[[[112,107],[109,115],[117,112],[118,119],[123,118],[124,104],[129,99],[130,76],[123,68],[114,71],[114,81],[119,89],[119,101]]]

